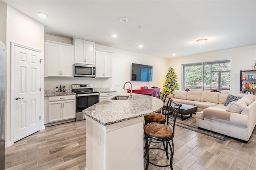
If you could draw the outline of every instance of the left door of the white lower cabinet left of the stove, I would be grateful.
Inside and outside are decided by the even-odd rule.
[[[53,101],[48,103],[49,123],[62,120],[62,107],[62,101]]]

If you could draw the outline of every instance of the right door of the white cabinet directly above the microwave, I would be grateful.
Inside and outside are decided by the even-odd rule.
[[[85,41],[85,63],[89,65],[95,65],[95,43]]]

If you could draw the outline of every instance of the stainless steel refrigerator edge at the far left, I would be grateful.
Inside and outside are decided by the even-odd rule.
[[[4,170],[5,164],[5,53],[5,45],[0,41],[0,170]]]

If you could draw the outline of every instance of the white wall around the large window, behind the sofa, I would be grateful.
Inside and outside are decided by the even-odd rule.
[[[169,59],[169,65],[175,69],[181,89],[182,64],[223,59],[231,59],[230,93],[240,93],[240,70],[252,70],[256,62],[256,45],[176,57]]]

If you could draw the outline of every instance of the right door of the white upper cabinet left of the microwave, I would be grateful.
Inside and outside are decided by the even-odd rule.
[[[62,45],[61,49],[61,76],[73,77],[73,47]]]

